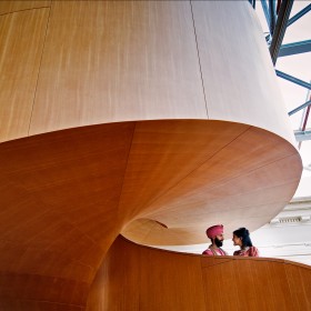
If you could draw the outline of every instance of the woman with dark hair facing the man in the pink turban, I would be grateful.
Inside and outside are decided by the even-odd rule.
[[[259,257],[259,251],[252,245],[250,232],[247,228],[240,228],[233,231],[233,245],[240,247],[239,251],[234,251],[233,255]]]

